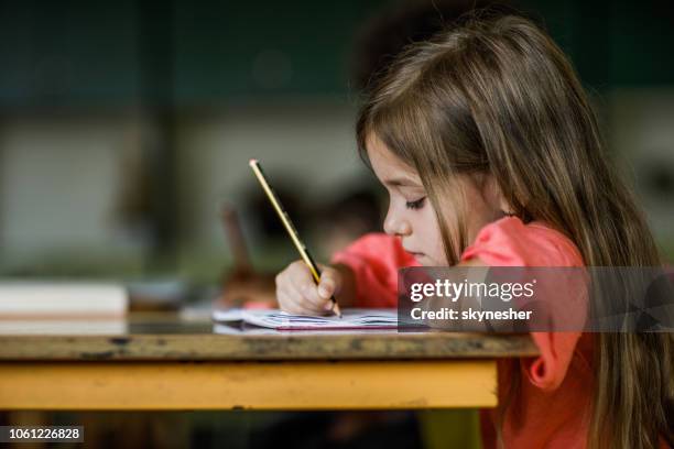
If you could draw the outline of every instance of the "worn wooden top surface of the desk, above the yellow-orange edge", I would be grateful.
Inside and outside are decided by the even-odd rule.
[[[371,331],[220,335],[208,319],[0,320],[0,361],[438,360],[536,355],[528,335]]]

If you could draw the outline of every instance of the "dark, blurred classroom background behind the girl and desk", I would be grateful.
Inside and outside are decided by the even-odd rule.
[[[354,120],[385,36],[418,37],[474,3],[0,1],[0,276],[115,280],[142,288],[139,307],[149,297],[149,307],[196,306],[232,267],[224,207],[238,212],[254,270],[275,273],[296,254],[251,157],[326,261],[380,229],[384,196],[357,155]],[[671,4],[507,3],[570,56],[674,262]],[[151,419],[180,420],[199,447],[246,447],[249,437],[224,435],[258,425],[242,413],[195,416]],[[395,414],[377,423],[410,425]]]

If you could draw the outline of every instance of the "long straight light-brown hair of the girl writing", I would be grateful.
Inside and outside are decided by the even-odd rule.
[[[452,175],[479,173],[494,176],[525,222],[540,220],[568,236],[588,266],[661,264],[642,212],[604,154],[572,65],[526,19],[481,12],[410,47],[360,110],[357,138],[366,158],[372,133],[417,169],[450,264],[470,243],[446,213],[449,199],[460,208],[459,198],[447,197]],[[674,445],[674,335],[597,333],[594,340],[590,447],[652,448],[660,437]]]

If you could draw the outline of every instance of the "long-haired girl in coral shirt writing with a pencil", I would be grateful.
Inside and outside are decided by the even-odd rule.
[[[324,266],[276,276],[291,313],[395,306],[411,265],[657,266],[653,239],[602,153],[559,48],[531,22],[474,18],[406,51],[370,90],[361,155],[390,195],[384,230]],[[541,355],[499,362],[483,441],[508,448],[674,445],[672,333],[533,332]]]

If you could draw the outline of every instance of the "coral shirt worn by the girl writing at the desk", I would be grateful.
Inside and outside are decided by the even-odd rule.
[[[480,230],[461,261],[479,259],[489,266],[583,266],[576,245],[563,233],[539,222],[524,225],[507,217]],[[400,240],[368,234],[335,254],[357,280],[356,304],[395,307],[398,269],[418,266]],[[593,387],[591,335],[532,332],[541,355],[498,361],[499,402],[519,371],[520,390],[503,419],[507,448],[585,448]],[[482,413],[482,441],[496,448],[493,410]],[[491,421],[491,423],[490,423]]]

